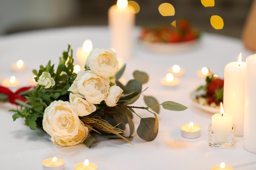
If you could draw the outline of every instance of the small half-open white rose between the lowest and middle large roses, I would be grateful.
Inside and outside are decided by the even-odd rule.
[[[87,116],[96,110],[94,104],[88,103],[85,99],[77,97],[73,93],[70,93],[70,104],[75,106],[76,112],[79,116]]]

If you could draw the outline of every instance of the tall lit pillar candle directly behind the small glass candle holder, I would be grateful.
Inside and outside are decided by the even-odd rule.
[[[243,136],[245,73],[246,62],[241,62],[241,53],[238,62],[228,63],[224,70],[223,108],[225,113],[233,115],[233,124],[236,125],[236,136]]]

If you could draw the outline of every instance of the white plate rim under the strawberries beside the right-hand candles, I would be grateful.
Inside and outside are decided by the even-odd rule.
[[[220,113],[220,108],[213,108],[210,106],[204,106],[202,104],[199,104],[196,100],[196,96],[197,95],[202,95],[204,93],[204,91],[193,91],[192,93],[190,93],[190,98],[192,100],[192,103],[197,106],[198,108],[207,111],[209,113]]]

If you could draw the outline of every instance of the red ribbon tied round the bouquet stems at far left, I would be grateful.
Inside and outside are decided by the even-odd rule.
[[[19,93],[22,91],[27,91],[27,90],[29,90],[29,88],[34,88],[34,86],[22,87],[22,88],[19,88],[15,93],[13,93],[12,91],[9,90],[9,88],[0,86],[0,93],[6,94],[8,96],[8,100],[10,103],[17,104],[15,102],[15,99],[19,99],[22,102],[27,101],[27,99],[25,97],[22,97],[21,95],[19,95]]]

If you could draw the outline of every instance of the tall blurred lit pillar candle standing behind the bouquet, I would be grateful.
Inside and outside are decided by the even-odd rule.
[[[117,5],[108,10],[110,44],[117,52],[117,56],[124,60],[132,55],[132,30],[135,22],[132,10],[127,0],[117,0]]]

